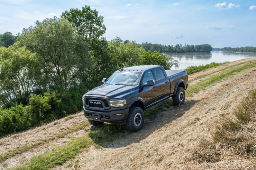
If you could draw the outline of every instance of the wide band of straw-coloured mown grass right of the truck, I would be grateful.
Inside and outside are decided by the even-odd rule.
[[[252,70],[255,67],[190,97],[187,104],[172,110],[166,117],[160,117],[160,127],[154,128],[151,133],[148,133],[148,129],[149,126],[155,126],[154,123],[131,134],[129,139],[114,142],[112,146],[101,150],[80,154],[80,169],[204,168],[205,165],[192,165],[186,160],[197,146],[198,137],[209,136],[220,116],[229,115],[246,94],[256,88],[256,71]],[[193,101],[197,102],[193,105]],[[170,123],[165,124],[168,121]],[[149,135],[143,139],[143,133]],[[131,140],[134,142],[127,142]],[[225,166],[231,166],[231,163],[227,163],[229,161],[235,161],[238,168],[256,163],[255,160],[237,160],[240,162],[223,158],[222,163],[212,163],[207,167],[224,169]]]

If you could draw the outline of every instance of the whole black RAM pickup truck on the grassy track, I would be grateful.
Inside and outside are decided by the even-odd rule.
[[[83,95],[84,116],[92,125],[103,122],[126,124],[137,132],[144,124],[144,111],[172,97],[183,104],[188,87],[185,70],[164,70],[162,66],[133,66],[119,69]]]

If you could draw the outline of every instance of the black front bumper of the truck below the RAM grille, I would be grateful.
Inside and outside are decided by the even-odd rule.
[[[110,112],[99,111],[99,110],[89,110],[83,106],[84,116],[88,120],[95,120],[100,122],[109,123],[125,123],[128,117],[129,108],[122,110],[112,110]],[[121,114],[121,115],[116,115]]]

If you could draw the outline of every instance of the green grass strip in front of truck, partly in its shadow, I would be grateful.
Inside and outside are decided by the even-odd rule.
[[[129,132],[124,125],[103,124],[97,129],[88,131],[87,135],[76,137],[67,145],[58,146],[51,151],[45,151],[41,155],[33,156],[28,162],[13,169],[50,169],[62,165],[70,159],[74,159],[79,153],[86,151],[89,147],[100,148],[109,144],[122,136],[125,137]],[[72,163],[69,163],[72,166]]]

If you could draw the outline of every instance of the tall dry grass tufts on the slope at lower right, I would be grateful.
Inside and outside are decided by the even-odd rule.
[[[192,160],[197,163],[219,162],[223,158],[256,159],[256,90],[246,97],[231,116],[216,124],[211,138],[199,141]],[[248,164],[243,168],[256,168]],[[235,167],[232,167],[232,169]]]

